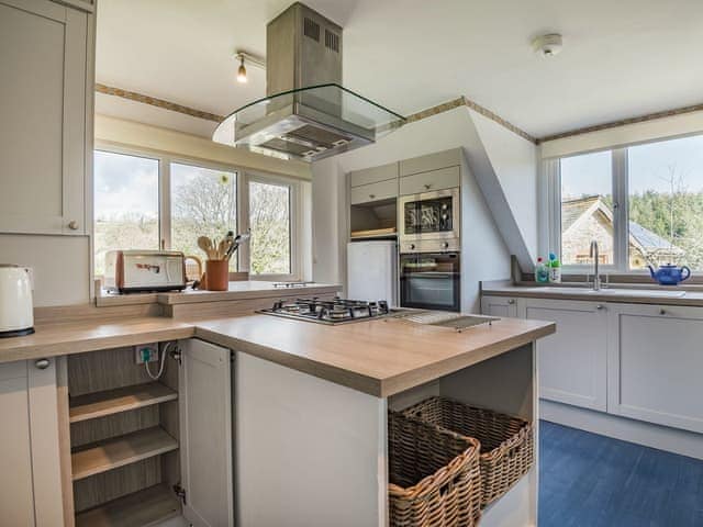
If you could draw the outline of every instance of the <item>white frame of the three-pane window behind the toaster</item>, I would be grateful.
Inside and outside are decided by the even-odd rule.
[[[249,228],[249,181],[257,181],[261,183],[270,184],[284,184],[290,188],[290,235],[291,235],[291,272],[287,274],[250,274],[250,280],[257,281],[298,281],[302,280],[303,276],[303,250],[301,248],[301,240],[303,239],[303,192],[301,189],[301,181],[294,178],[288,178],[276,173],[269,173],[264,171],[253,171],[235,165],[215,162],[210,160],[203,160],[199,158],[191,158],[187,156],[178,156],[172,154],[165,154],[158,150],[150,150],[148,148],[140,148],[125,146],[109,142],[97,141],[93,150],[107,152],[112,154],[121,154],[134,157],[145,157],[148,159],[155,159],[158,161],[158,216],[159,216],[159,246],[161,249],[169,249],[171,246],[171,188],[170,188],[170,168],[171,164],[189,165],[196,168],[208,168],[212,170],[224,170],[227,172],[235,172],[237,177],[237,231],[243,233]],[[90,195],[91,206],[94,204],[93,195]],[[94,237],[94,218],[90,221],[90,234],[91,240]],[[248,244],[239,247],[237,251],[237,270],[242,272],[248,272],[249,265],[249,249]],[[196,255],[201,256],[201,255]],[[90,249],[90,269],[94,270],[94,251],[91,244]]]

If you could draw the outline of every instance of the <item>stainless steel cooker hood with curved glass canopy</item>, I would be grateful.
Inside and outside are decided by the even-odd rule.
[[[314,161],[352,150],[405,119],[342,85],[342,27],[295,2],[266,29],[266,93],[228,115],[213,141]]]

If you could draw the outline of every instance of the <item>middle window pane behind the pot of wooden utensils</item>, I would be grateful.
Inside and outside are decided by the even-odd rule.
[[[198,237],[222,239],[237,232],[237,175],[171,162],[171,239],[174,250],[199,255]],[[236,258],[230,264],[236,270]]]

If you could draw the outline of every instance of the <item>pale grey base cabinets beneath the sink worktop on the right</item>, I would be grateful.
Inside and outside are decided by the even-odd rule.
[[[703,434],[703,307],[481,298],[486,315],[551,321],[539,397]]]

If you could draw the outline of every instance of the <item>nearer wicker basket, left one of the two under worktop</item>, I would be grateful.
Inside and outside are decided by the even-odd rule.
[[[389,412],[390,525],[472,527],[481,516],[479,441]]]

